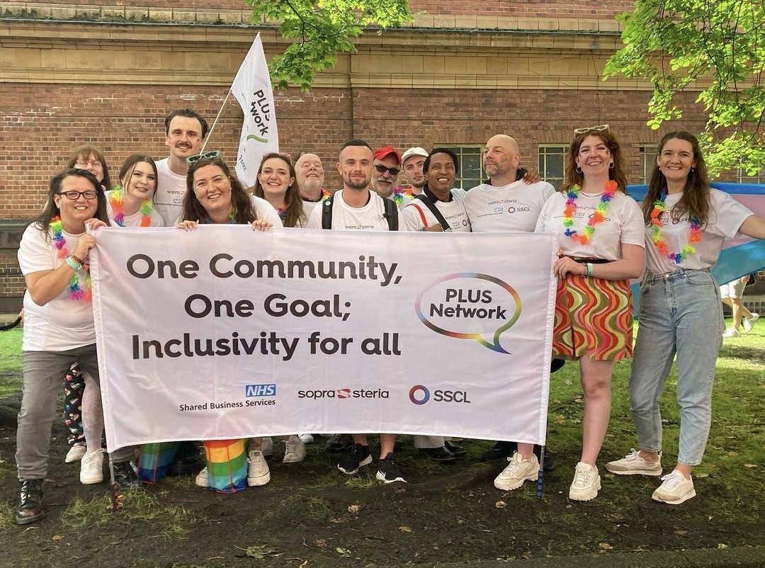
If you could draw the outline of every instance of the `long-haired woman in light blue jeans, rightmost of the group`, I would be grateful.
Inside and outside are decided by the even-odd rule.
[[[677,355],[680,440],[677,463],[654,501],[695,497],[691,470],[702,462],[711,424],[715,362],[725,329],[710,270],[725,239],[765,239],[765,219],[709,187],[694,135],[670,132],[659,143],[643,201],[648,271],[640,290],[640,329],[630,372],[630,407],[640,450],[607,464],[617,475],[662,475],[659,400]]]

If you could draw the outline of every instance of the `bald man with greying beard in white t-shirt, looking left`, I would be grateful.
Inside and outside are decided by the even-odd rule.
[[[534,232],[542,206],[555,194],[555,188],[545,181],[525,182],[519,172],[520,161],[514,138],[503,134],[489,138],[483,150],[483,170],[489,181],[468,191],[463,201],[473,232]],[[554,359],[555,370],[561,365],[562,359]],[[515,442],[500,440],[481,459],[506,458],[516,449]],[[535,446],[535,453],[539,454],[539,446]],[[548,456],[545,469],[552,469]]]

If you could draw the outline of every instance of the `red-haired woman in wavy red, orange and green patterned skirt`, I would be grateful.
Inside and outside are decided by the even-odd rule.
[[[640,208],[625,187],[617,138],[607,128],[580,131],[561,190],[542,207],[536,226],[560,234],[552,351],[578,359],[584,392],[582,450],[568,492],[574,501],[590,501],[601,488],[595,463],[610,417],[611,375],[615,362],[632,355],[630,278],[642,274],[645,252]],[[530,479],[530,444],[518,444],[518,453],[508,468],[515,463],[516,477]]]

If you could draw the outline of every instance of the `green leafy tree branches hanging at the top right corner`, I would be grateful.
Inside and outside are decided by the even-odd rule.
[[[637,0],[623,22],[624,47],[604,79],[649,80],[648,125],[680,118],[675,94],[696,91],[708,118],[699,141],[712,174],[765,166],[765,5],[763,0]]]

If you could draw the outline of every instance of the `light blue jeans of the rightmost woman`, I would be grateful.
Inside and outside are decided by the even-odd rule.
[[[720,290],[708,270],[648,276],[630,372],[630,404],[641,450],[662,449],[659,401],[677,355],[678,463],[702,463],[711,424],[712,382],[725,323]]]

